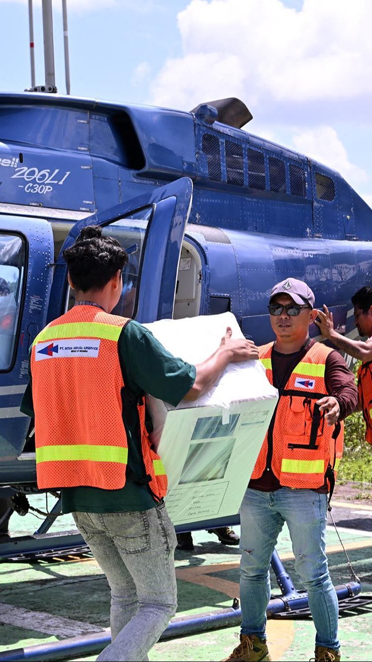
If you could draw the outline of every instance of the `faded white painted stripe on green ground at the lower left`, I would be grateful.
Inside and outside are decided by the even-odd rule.
[[[0,602],[0,623],[27,628],[57,637],[76,637],[89,632],[107,632],[109,628],[100,628],[91,623],[71,620],[63,616],[52,616],[46,612],[34,612],[13,604]]]

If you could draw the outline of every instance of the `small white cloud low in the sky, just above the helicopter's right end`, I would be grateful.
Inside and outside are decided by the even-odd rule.
[[[293,135],[293,146],[297,152],[338,170],[351,185],[361,185],[369,179],[363,168],[349,161],[346,148],[333,126],[297,130]]]

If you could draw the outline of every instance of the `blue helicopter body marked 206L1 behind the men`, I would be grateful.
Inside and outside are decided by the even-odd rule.
[[[61,251],[83,225],[128,249],[120,314],[231,310],[262,344],[271,287],[296,277],[356,335],[350,299],[371,278],[372,210],[336,171],[198,112],[1,94],[0,127],[0,285],[14,299],[3,328],[0,307],[0,484],[35,481],[19,412],[28,349],[71,304]]]

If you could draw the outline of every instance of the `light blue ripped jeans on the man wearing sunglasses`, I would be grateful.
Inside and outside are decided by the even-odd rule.
[[[242,634],[265,639],[270,599],[270,559],[287,522],[295,569],[308,592],[316,645],[338,649],[338,599],[326,557],[327,495],[282,487],[275,492],[248,489],[240,507],[240,601]]]

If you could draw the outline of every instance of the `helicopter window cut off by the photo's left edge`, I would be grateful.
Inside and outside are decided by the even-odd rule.
[[[19,236],[0,233],[0,370],[9,370],[17,335],[24,242]]]

